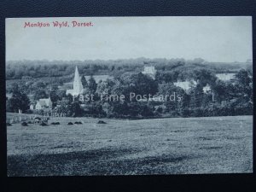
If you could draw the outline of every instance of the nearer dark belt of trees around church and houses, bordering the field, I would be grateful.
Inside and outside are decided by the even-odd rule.
[[[194,79],[197,84],[189,91],[184,91],[173,83],[177,79]],[[241,69],[235,75],[234,81],[221,81],[212,70],[194,67],[190,71],[172,70],[170,73],[157,73],[155,79],[143,73],[126,72],[96,84],[91,76],[87,81],[82,76],[83,95],[94,95],[94,101],[79,101],[76,97],[67,95],[65,90],[56,84],[50,86],[44,82],[36,84],[33,99],[50,96],[54,102],[55,112],[66,113],[67,116],[92,116],[108,118],[159,118],[159,117],[201,117],[253,114],[253,79],[250,70]],[[211,91],[205,93],[206,85]],[[15,112],[19,108],[29,112],[28,99],[24,86],[13,84],[10,89],[12,97],[7,100],[7,111]],[[212,95],[213,91],[213,95]],[[137,95],[172,95],[173,92],[182,96],[181,102],[170,99],[159,101],[138,102],[129,100],[129,94]],[[124,101],[109,101],[101,99],[104,95],[124,95]],[[84,105],[83,105],[84,104]]]

